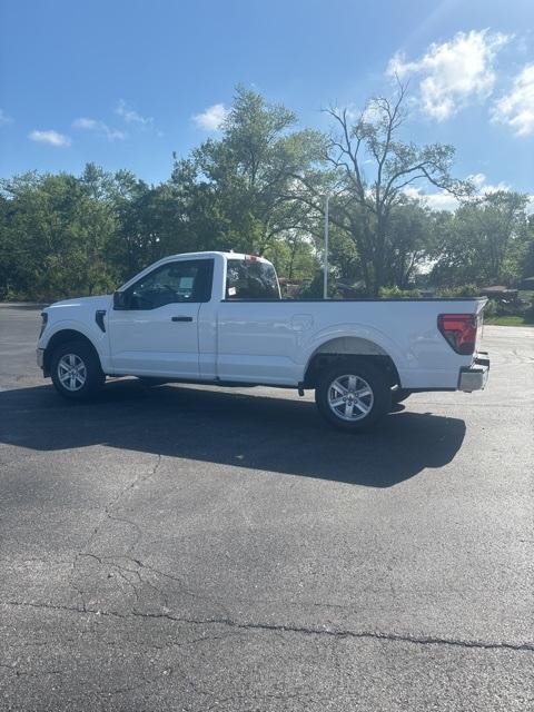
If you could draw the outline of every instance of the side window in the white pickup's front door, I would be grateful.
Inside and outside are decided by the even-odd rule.
[[[212,259],[162,265],[128,288],[127,308],[157,309],[166,304],[209,301],[212,275]]]

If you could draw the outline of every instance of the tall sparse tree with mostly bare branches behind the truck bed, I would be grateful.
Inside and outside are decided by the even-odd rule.
[[[452,146],[402,140],[405,100],[406,88],[398,85],[393,99],[372,99],[359,116],[328,110],[337,126],[328,146],[337,181],[332,220],[355,241],[365,284],[375,296],[390,278],[392,251],[402,249],[392,224],[396,209],[406,204],[406,189],[421,181],[456,195],[471,189],[451,176]]]

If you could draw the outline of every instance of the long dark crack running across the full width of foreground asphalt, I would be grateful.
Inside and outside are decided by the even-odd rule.
[[[24,601],[3,601],[1,605],[13,607],[31,607],[39,610],[62,611],[69,613],[81,613],[89,615],[100,615],[102,617],[116,617],[120,620],[145,619],[145,620],[167,620],[174,623],[189,625],[225,625],[241,631],[265,631],[268,633],[295,633],[299,635],[318,635],[335,639],[363,639],[377,640],[395,643],[412,643],[414,645],[448,645],[452,647],[465,647],[472,650],[510,650],[515,652],[534,652],[534,642],[507,643],[497,641],[461,640],[454,637],[439,637],[433,635],[412,635],[409,633],[387,633],[383,631],[354,631],[333,627],[313,627],[304,625],[291,625],[281,623],[244,623],[230,617],[207,617],[192,619],[187,616],[176,616],[171,613],[148,613],[142,611],[131,611],[119,613],[117,611],[102,611],[99,609],[79,609],[76,606],[60,605],[53,603],[31,603]]]

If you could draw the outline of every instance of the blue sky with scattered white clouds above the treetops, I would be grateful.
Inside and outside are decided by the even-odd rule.
[[[362,107],[396,70],[409,138],[533,194],[533,30],[532,0],[2,0],[0,176],[93,160],[159,181],[239,82],[327,129],[322,108]]]

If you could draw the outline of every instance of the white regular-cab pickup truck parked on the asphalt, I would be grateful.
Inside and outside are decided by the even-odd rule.
[[[411,393],[477,390],[485,299],[289,300],[273,265],[235,253],[160,259],[112,296],[42,313],[37,359],[85,399],[106,376],[314,388],[322,415],[359,431]]]

